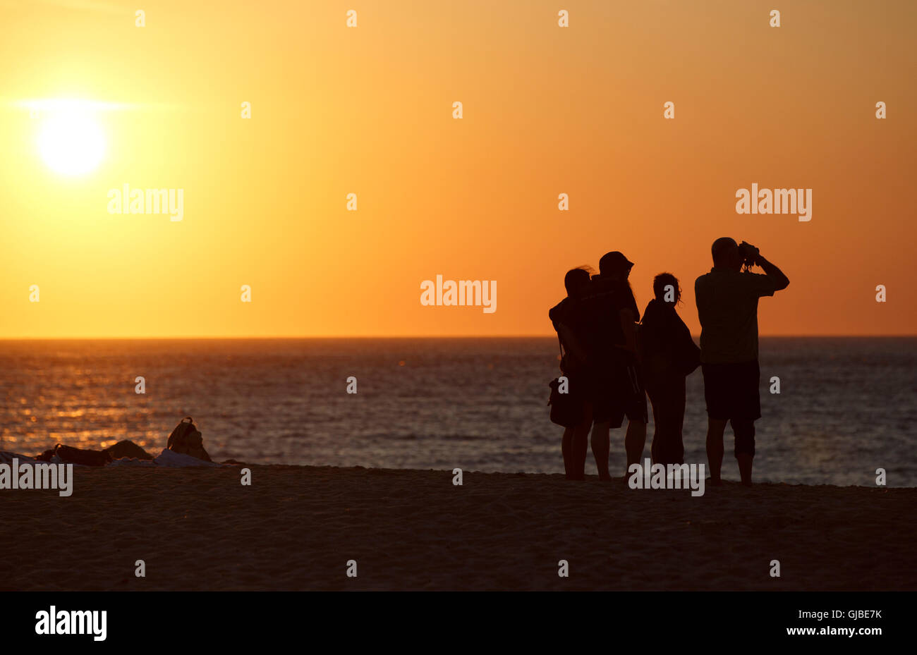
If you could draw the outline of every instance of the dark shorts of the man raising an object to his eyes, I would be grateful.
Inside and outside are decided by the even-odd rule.
[[[742,364],[702,364],[703,398],[707,416],[719,420],[761,418],[758,386],[761,370],[757,359]]]

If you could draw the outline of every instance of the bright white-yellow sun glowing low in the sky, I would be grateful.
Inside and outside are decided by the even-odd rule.
[[[43,104],[39,153],[48,167],[61,175],[85,175],[105,156],[105,134],[92,105],[79,101]]]

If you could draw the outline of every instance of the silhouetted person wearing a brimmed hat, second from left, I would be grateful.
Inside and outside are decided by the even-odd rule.
[[[592,456],[601,480],[610,480],[609,431],[627,417],[627,466],[640,461],[646,443],[646,392],[636,361],[636,322],[640,311],[627,278],[634,264],[620,252],[599,260],[586,299],[592,331]],[[627,469],[624,469],[626,479]]]

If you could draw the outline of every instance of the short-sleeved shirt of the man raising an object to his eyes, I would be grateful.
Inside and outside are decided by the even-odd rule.
[[[777,287],[771,276],[717,267],[695,280],[704,364],[757,359],[757,299],[773,296]]]

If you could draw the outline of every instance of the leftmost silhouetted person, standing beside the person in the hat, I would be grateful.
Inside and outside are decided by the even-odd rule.
[[[569,393],[574,397],[571,399],[581,403],[583,412],[580,424],[564,428],[560,441],[568,480],[585,479],[586,438],[592,424],[588,317],[583,304],[589,286],[589,269],[572,268],[567,271],[564,276],[567,298],[547,312],[566,351],[560,367],[568,378]]]

